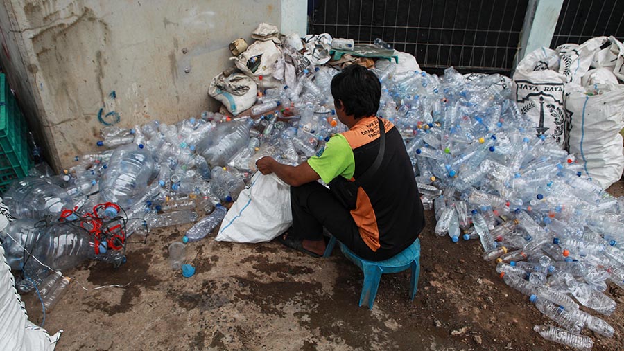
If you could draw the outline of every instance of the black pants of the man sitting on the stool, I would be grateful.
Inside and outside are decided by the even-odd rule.
[[[298,239],[322,240],[323,227],[365,260],[381,261],[392,257],[382,249],[372,251],[360,236],[351,213],[340,204],[329,189],[313,181],[302,186],[291,186],[293,228],[288,235]]]

